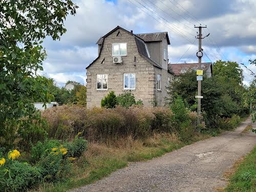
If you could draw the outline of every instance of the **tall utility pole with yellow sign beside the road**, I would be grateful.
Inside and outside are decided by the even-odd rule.
[[[198,89],[197,89],[197,92],[198,92],[198,95],[196,96],[196,98],[198,98],[198,104],[197,104],[197,124],[199,125],[200,124],[200,115],[201,115],[201,98],[203,98],[201,96],[201,89],[202,89],[202,80],[203,80],[203,71],[202,71],[202,56],[203,56],[203,50],[202,50],[202,39],[205,38],[205,37],[208,37],[210,34],[206,35],[205,37],[202,37],[202,28],[206,28],[205,27],[202,27],[201,24],[199,27],[196,27],[195,28],[199,28],[199,35],[197,35],[196,38],[199,39],[199,46],[198,46],[198,52],[197,52],[197,57],[198,57],[198,63],[199,63],[199,67],[198,67],[198,70],[197,70],[197,75],[199,75],[197,77],[197,81],[198,81]]]

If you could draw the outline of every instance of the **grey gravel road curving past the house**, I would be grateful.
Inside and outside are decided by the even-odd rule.
[[[256,144],[256,134],[241,133],[249,123],[250,118],[234,132],[199,141],[160,158],[131,163],[109,177],[72,192],[216,191],[217,187],[227,184],[223,178],[225,170]]]

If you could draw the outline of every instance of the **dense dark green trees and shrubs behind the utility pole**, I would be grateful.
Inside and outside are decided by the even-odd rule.
[[[226,124],[234,115],[244,116],[249,108],[244,105],[243,98],[247,90],[241,85],[242,70],[237,62],[216,61],[213,66],[214,76],[204,75],[202,81],[202,114],[208,129],[233,128]],[[191,111],[197,110],[197,81],[196,72],[188,71],[172,83],[170,103],[177,96],[184,100],[185,106]]]

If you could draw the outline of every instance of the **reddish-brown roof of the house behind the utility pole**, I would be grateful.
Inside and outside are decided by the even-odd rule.
[[[197,70],[199,63],[174,63],[168,64],[168,71],[172,71],[174,75],[179,76],[182,73],[185,73],[189,70]],[[212,74],[212,63],[211,62],[202,62],[202,70],[211,70]]]

